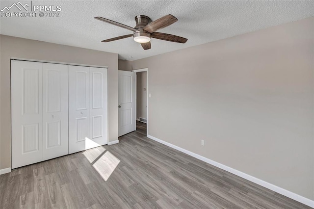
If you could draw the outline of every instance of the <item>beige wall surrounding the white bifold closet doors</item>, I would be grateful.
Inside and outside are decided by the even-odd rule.
[[[0,36],[0,169],[11,167],[10,58],[100,65],[108,67],[108,141],[118,139],[118,54]]]

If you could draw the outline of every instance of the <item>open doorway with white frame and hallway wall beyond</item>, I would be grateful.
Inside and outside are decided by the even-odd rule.
[[[146,125],[148,135],[148,68],[133,70],[134,73],[134,130]]]

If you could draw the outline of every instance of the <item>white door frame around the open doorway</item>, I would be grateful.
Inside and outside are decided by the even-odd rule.
[[[134,130],[136,131],[136,111],[137,111],[137,80],[136,73],[146,72],[146,136],[148,135],[148,68],[132,70],[134,73]]]

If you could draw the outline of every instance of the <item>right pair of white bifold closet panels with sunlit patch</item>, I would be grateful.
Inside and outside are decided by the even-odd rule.
[[[69,154],[108,143],[107,69],[69,65]]]

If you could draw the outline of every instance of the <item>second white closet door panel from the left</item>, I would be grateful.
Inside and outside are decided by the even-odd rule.
[[[67,155],[68,65],[43,63],[43,159]]]

